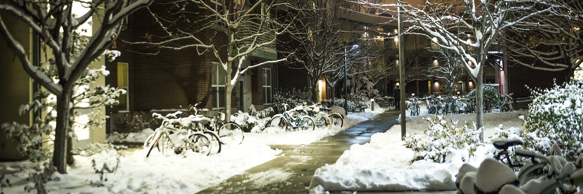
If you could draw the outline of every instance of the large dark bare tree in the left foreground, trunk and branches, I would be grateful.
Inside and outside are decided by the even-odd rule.
[[[30,27],[40,40],[51,48],[54,64],[57,68],[58,80],[33,64],[30,55],[24,50],[23,44],[14,37],[6,27],[5,20],[0,17],[0,33],[16,57],[23,65],[24,71],[41,84],[50,93],[57,96],[57,126],[55,128],[53,163],[61,174],[66,173],[66,147],[69,129],[69,114],[76,80],[97,57],[114,41],[121,30],[121,23],[136,10],[146,7],[153,0],[94,0],[94,1],[43,1],[43,0],[8,0],[0,2],[0,10],[16,16]],[[81,3],[87,13],[75,15],[73,3]],[[73,31],[93,17],[93,24],[100,25],[94,31],[89,42],[78,55],[72,55],[75,43],[71,43]]]

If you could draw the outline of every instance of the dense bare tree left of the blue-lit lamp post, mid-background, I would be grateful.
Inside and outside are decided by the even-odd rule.
[[[345,72],[357,73],[353,66],[361,64],[370,54],[371,47],[360,39],[364,30],[342,22],[340,3],[340,0],[297,2],[296,9],[290,10],[297,12],[294,13],[297,17],[287,20],[294,26],[290,38],[297,43],[286,49],[295,53],[290,68],[307,71],[314,101],[318,98],[320,76],[329,75],[328,83],[334,86],[343,80]]]

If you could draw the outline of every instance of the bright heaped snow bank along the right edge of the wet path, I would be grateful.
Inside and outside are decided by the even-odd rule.
[[[393,127],[395,128],[395,126]],[[414,151],[405,148],[397,130],[371,136],[371,143],[353,144],[335,164],[318,168],[311,193],[327,191],[454,190],[462,162],[438,164],[420,160],[409,165]],[[319,190],[319,191],[318,191]]]

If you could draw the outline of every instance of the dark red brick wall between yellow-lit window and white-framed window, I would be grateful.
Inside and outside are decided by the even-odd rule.
[[[164,13],[165,8],[150,6],[153,12]],[[217,61],[214,55],[198,55],[195,48],[182,50],[160,49],[140,44],[127,44],[122,40],[135,42],[157,42],[164,40],[166,33],[157,26],[146,9],[139,10],[129,17],[128,30],[122,31],[116,47],[122,52],[110,65],[112,86],[117,86],[117,62],[129,64],[129,109],[130,111],[150,111],[187,107],[202,101],[201,107],[212,108],[211,62]],[[181,24],[188,27],[189,23]],[[211,40],[215,45],[223,45],[226,51],[226,36],[208,29],[195,33],[203,40]],[[193,43],[182,41],[180,44]],[[143,54],[150,53],[150,54]],[[226,56],[223,56],[226,57]],[[233,104],[236,103],[236,90],[233,90]],[[112,111],[117,111],[113,107]]]

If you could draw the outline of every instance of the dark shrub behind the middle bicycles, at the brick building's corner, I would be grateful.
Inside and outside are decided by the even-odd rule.
[[[311,99],[312,93],[308,89],[276,91],[275,94],[273,94],[273,97],[271,98],[275,112],[278,112],[280,114],[283,113],[283,111],[286,111],[284,110],[283,104],[288,104],[289,107],[287,108],[290,107],[293,108],[296,107],[296,105],[302,103],[314,104],[314,102],[312,102]]]

